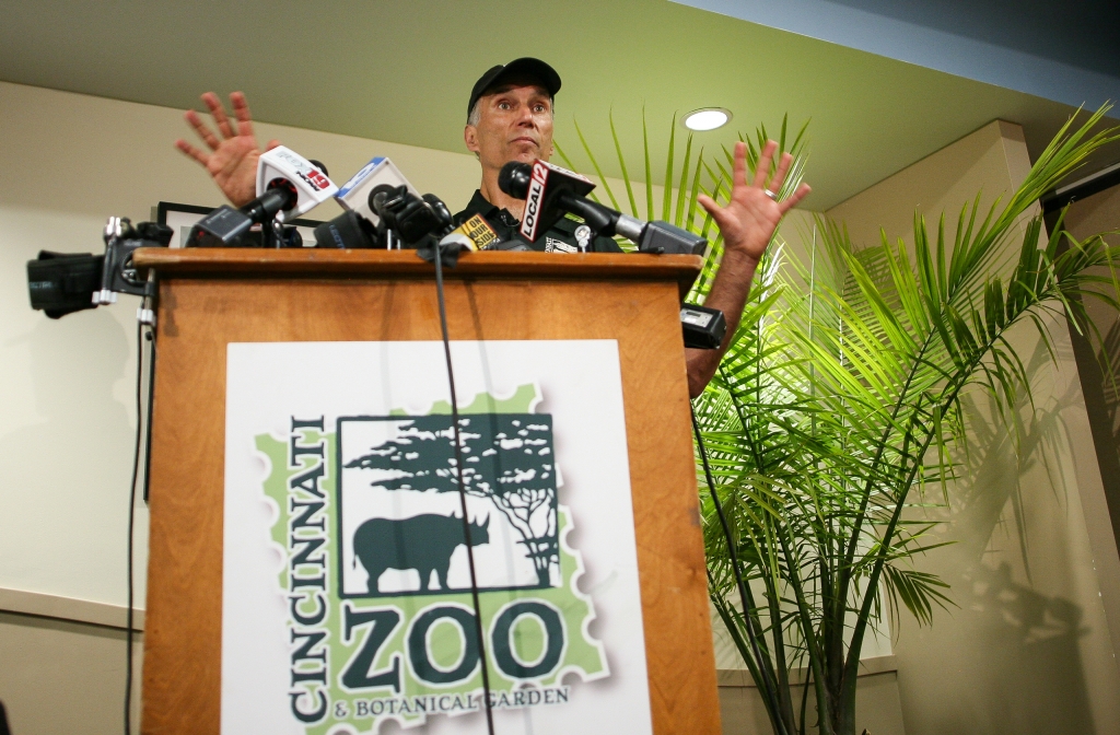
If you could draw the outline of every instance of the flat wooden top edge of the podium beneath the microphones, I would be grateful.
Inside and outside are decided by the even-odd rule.
[[[432,264],[414,250],[263,250],[141,248],[133,255],[140,270],[160,278],[431,278]],[[448,279],[544,278],[559,280],[675,281],[688,292],[700,273],[699,255],[640,253],[465,252]]]

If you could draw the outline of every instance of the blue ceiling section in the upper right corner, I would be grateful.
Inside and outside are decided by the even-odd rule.
[[[673,0],[1096,109],[1120,96],[1116,0]]]

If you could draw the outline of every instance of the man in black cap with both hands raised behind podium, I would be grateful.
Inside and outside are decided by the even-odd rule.
[[[504,66],[494,66],[478,78],[470,90],[463,140],[467,150],[478,158],[482,182],[466,208],[456,215],[457,223],[478,214],[502,239],[513,238],[524,215],[525,202],[502,192],[497,184],[498,173],[513,160],[531,164],[536,159],[547,161],[551,158],[552,108],[559,91],[560,75],[535,58],[519,58]],[[204,124],[194,110],[186,113],[186,119],[209,152],[181,139],[175,145],[206,167],[234,206],[242,206],[256,194],[256,160],[261,155],[249,105],[242,93],[230,95],[236,118],[234,122],[226,115],[216,94],[207,92],[202,99],[214,118],[217,133]],[[279,145],[278,140],[269,141],[265,150]],[[775,192],[782,189],[793,157],[783,153],[773,178],[769,178],[776,150],[776,142],[766,142],[758,157],[754,180],[748,184],[746,145],[736,143],[731,197],[727,206],[721,207],[703,195],[698,199],[724,235],[724,259],[704,305],[724,313],[727,336],[719,350],[685,350],[689,393],[693,398],[703,391],[719,366],[720,357],[739,324],[755,269],[774,231],[785,213],[809,194],[809,186],[803,184],[786,199],[777,201]],[[587,235],[580,231],[578,223],[562,217],[533,246],[553,252],[576,252],[585,244],[584,238]],[[608,238],[597,238],[586,244],[589,251],[619,252]]]

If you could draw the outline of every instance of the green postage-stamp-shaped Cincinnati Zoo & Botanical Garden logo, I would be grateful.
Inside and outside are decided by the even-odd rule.
[[[564,706],[575,674],[609,674],[568,547],[552,417],[533,385],[459,416],[464,522],[449,407],[426,416],[292,416],[270,464],[286,564],[291,716],[308,735],[376,733],[484,708],[474,555],[495,709]],[[515,410],[520,409],[520,410]],[[332,431],[333,429],[333,431]]]

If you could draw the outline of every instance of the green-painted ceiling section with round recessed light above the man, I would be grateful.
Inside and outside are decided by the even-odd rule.
[[[528,55],[563,77],[558,142],[589,168],[578,120],[608,176],[612,110],[640,179],[645,109],[655,183],[674,112],[732,111],[696,134],[708,151],[786,113],[811,119],[805,206],[819,211],[997,118],[1037,155],[1073,112],[668,0],[0,0],[0,80],[172,108],[243,90],[259,120],[457,152],[474,81]]]

